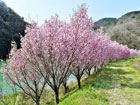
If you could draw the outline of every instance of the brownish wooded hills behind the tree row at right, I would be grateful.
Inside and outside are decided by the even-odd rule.
[[[132,11],[120,18],[103,18],[95,22],[94,29],[103,27],[112,40],[140,49],[140,11]]]

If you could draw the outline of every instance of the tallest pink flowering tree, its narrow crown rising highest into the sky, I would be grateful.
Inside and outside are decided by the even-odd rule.
[[[90,44],[93,39],[93,21],[87,15],[87,9],[80,7],[74,13],[70,21],[71,37],[75,60],[72,63],[71,73],[77,78],[78,87],[81,88],[80,80],[86,70],[86,62],[90,53]]]

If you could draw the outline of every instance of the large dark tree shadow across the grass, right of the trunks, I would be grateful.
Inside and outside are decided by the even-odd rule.
[[[132,73],[122,69],[107,68],[103,75],[93,81],[92,86],[96,89],[106,90],[126,87],[140,89],[140,82],[133,82],[133,78],[124,76]]]

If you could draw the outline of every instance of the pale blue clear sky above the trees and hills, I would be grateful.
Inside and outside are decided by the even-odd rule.
[[[74,10],[86,4],[88,15],[94,21],[104,17],[119,18],[130,11],[140,10],[140,0],[3,0],[26,21],[42,24],[55,13],[61,20],[69,20]]]

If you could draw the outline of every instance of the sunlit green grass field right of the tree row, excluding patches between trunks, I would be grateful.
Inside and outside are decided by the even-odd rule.
[[[140,105],[139,63],[140,58],[109,63],[101,76],[92,76],[59,105]]]

